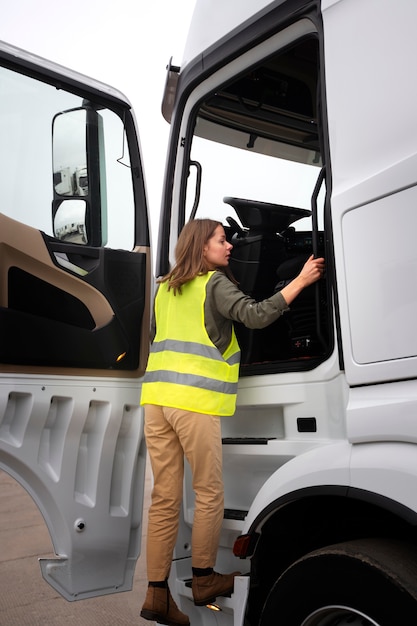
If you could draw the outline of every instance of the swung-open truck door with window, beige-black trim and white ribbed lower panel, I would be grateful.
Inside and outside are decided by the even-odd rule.
[[[0,468],[39,507],[67,600],[126,591],[140,552],[150,240],[119,92],[0,44]]]

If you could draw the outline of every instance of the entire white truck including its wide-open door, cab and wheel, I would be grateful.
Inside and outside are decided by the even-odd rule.
[[[155,276],[194,217],[224,223],[232,270],[255,298],[307,255],[326,258],[324,280],[277,323],[237,327],[216,568],[242,576],[212,610],[193,605],[186,473],[170,587],[193,626],[416,623],[416,21],[409,0],[198,0],[181,68],[168,67]],[[44,577],[75,600],[129,589],[140,551],[152,291],[142,165],[121,94],[5,45],[0,57],[2,137],[15,122],[0,144],[0,171],[12,168],[0,466],[44,515],[57,554]],[[74,123],[88,194],[63,199],[53,153]],[[36,194],[16,178],[31,141]],[[75,212],[85,245],[54,231]]]

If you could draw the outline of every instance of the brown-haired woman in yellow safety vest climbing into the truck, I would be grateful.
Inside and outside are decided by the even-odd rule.
[[[230,595],[234,576],[214,571],[223,520],[222,416],[236,405],[240,350],[233,322],[263,328],[318,280],[324,259],[311,256],[282,291],[262,302],[246,296],[228,271],[232,245],[223,226],[209,219],[183,228],[175,267],[159,282],[156,334],[142,388],[145,436],[154,488],[149,510],[149,586],[141,616],[188,626],[168,589],[182,501],[184,456],[193,476],[192,593],[204,606]]]

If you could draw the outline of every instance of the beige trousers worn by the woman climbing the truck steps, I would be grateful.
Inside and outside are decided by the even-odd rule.
[[[148,518],[148,580],[170,571],[182,502],[184,456],[195,492],[192,566],[214,567],[224,495],[220,417],[145,405],[145,436],[154,477]]]

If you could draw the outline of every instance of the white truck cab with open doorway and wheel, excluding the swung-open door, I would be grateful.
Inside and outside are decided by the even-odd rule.
[[[217,623],[388,626],[416,611],[415,17],[408,2],[200,1],[168,70],[157,275],[195,217],[224,225],[257,300],[310,254],[326,261],[277,322],[236,326],[217,567],[243,576]],[[184,493],[172,587],[202,624],[190,476]]]

